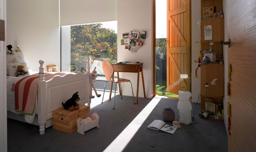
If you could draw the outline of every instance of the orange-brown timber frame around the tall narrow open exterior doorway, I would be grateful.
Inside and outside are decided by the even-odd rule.
[[[190,0],[190,6],[189,6],[189,11],[190,11],[190,63],[189,63],[189,68],[190,68],[190,88],[189,91],[191,92],[191,83],[192,83],[192,67],[191,67],[191,52],[192,52],[192,32],[191,32],[191,3],[192,1]],[[153,88],[153,97],[156,96],[156,0],[151,0],[151,21],[152,21],[152,26],[151,26],[151,30],[152,30],[152,46],[151,46],[151,51],[152,51],[152,88]],[[167,97],[167,98],[171,98],[171,99],[179,99],[179,98],[175,98],[175,97]]]

